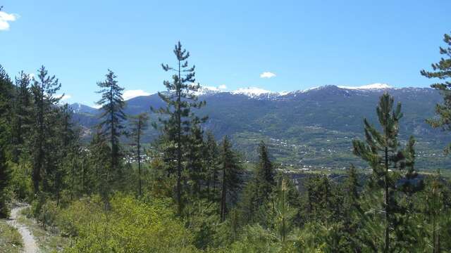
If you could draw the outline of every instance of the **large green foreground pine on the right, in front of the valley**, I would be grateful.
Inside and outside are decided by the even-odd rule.
[[[395,200],[395,176],[390,171],[401,170],[406,166],[405,151],[398,141],[399,121],[402,117],[401,104],[393,110],[393,97],[384,93],[379,100],[376,113],[382,133],[364,119],[366,141],[353,140],[354,154],[369,163],[373,169],[376,186],[383,190],[384,235],[383,252],[390,252],[390,231],[396,231],[394,214],[397,211]]]

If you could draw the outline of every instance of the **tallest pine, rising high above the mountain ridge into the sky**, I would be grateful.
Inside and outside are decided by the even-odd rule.
[[[165,81],[164,86],[168,92],[159,92],[160,98],[166,103],[166,108],[160,108],[159,110],[152,111],[164,115],[159,118],[159,122],[163,124],[163,139],[166,141],[168,148],[166,149],[167,160],[176,160],[175,172],[176,172],[176,202],[178,207],[178,214],[182,214],[182,180],[183,180],[183,149],[186,147],[189,138],[187,138],[188,132],[191,127],[190,124],[195,117],[192,108],[201,108],[205,105],[204,101],[197,101],[195,91],[200,86],[194,84],[194,65],[188,67],[187,58],[190,57],[190,53],[182,48],[180,41],[174,48],[174,54],[176,58],[176,67],[170,67],[169,65],[162,64],[164,71],[174,72],[172,82]],[[202,119],[204,121],[205,119]],[[156,124],[154,124],[156,126]],[[172,169],[173,171],[173,169]]]

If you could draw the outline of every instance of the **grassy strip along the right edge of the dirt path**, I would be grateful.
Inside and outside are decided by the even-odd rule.
[[[24,209],[22,214],[29,212],[28,209]],[[40,252],[61,252],[63,247],[68,245],[68,238],[61,237],[56,228],[47,227],[47,229],[44,229],[36,221],[28,219],[25,215],[19,216],[18,222],[30,229],[35,236]]]

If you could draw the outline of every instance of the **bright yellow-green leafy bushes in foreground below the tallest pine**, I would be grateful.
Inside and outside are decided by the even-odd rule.
[[[197,252],[166,203],[115,195],[105,210],[99,198],[77,201],[61,217],[64,231],[78,235],[65,252]]]

